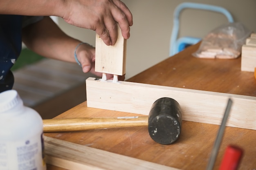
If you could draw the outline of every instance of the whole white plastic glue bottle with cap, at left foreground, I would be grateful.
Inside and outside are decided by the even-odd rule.
[[[46,170],[43,120],[17,91],[0,93],[0,170]]]

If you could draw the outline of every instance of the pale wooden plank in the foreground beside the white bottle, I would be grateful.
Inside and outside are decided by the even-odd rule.
[[[44,136],[46,163],[67,170],[178,170]]]

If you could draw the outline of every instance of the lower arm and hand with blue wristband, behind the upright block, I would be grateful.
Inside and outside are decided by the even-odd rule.
[[[49,17],[30,24],[22,29],[22,41],[32,51],[44,57],[76,62],[74,50],[81,41],[66,35]],[[99,77],[102,73],[95,72],[95,48],[88,44],[81,44],[76,50],[77,59],[82,65],[84,73],[91,72]],[[107,75],[112,79],[113,75]],[[119,77],[124,80],[124,76]]]

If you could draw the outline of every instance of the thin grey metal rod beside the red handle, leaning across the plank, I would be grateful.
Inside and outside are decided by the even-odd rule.
[[[218,131],[217,138],[215,140],[215,143],[213,145],[213,149],[211,151],[211,156],[210,156],[210,159],[209,159],[206,170],[212,170],[213,169],[214,163],[216,161],[216,157],[218,155],[218,150],[220,148],[220,143],[222,141],[222,137],[223,137],[223,134],[224,134],[224,130],[225,130],[225,127],[226,127],[227,119],[229,117],[229,112],[230,112],[230,109],[231,109],[231,105],[232,105],[232,100],[229,99],[228,103],[227,103],[225,113],[224,113],[224,116],[223,116],[223,119],[222,119],[222,122],[221,122],[221,125],[220,125],[220,128],[219,128],[219,131]]]

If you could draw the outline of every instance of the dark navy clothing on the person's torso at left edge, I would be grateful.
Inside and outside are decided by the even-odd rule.
[[[13,87],[14,77],[10,69],[20,55],[22,27],[42,18],[42,16],[0,15],[0,93]]]

